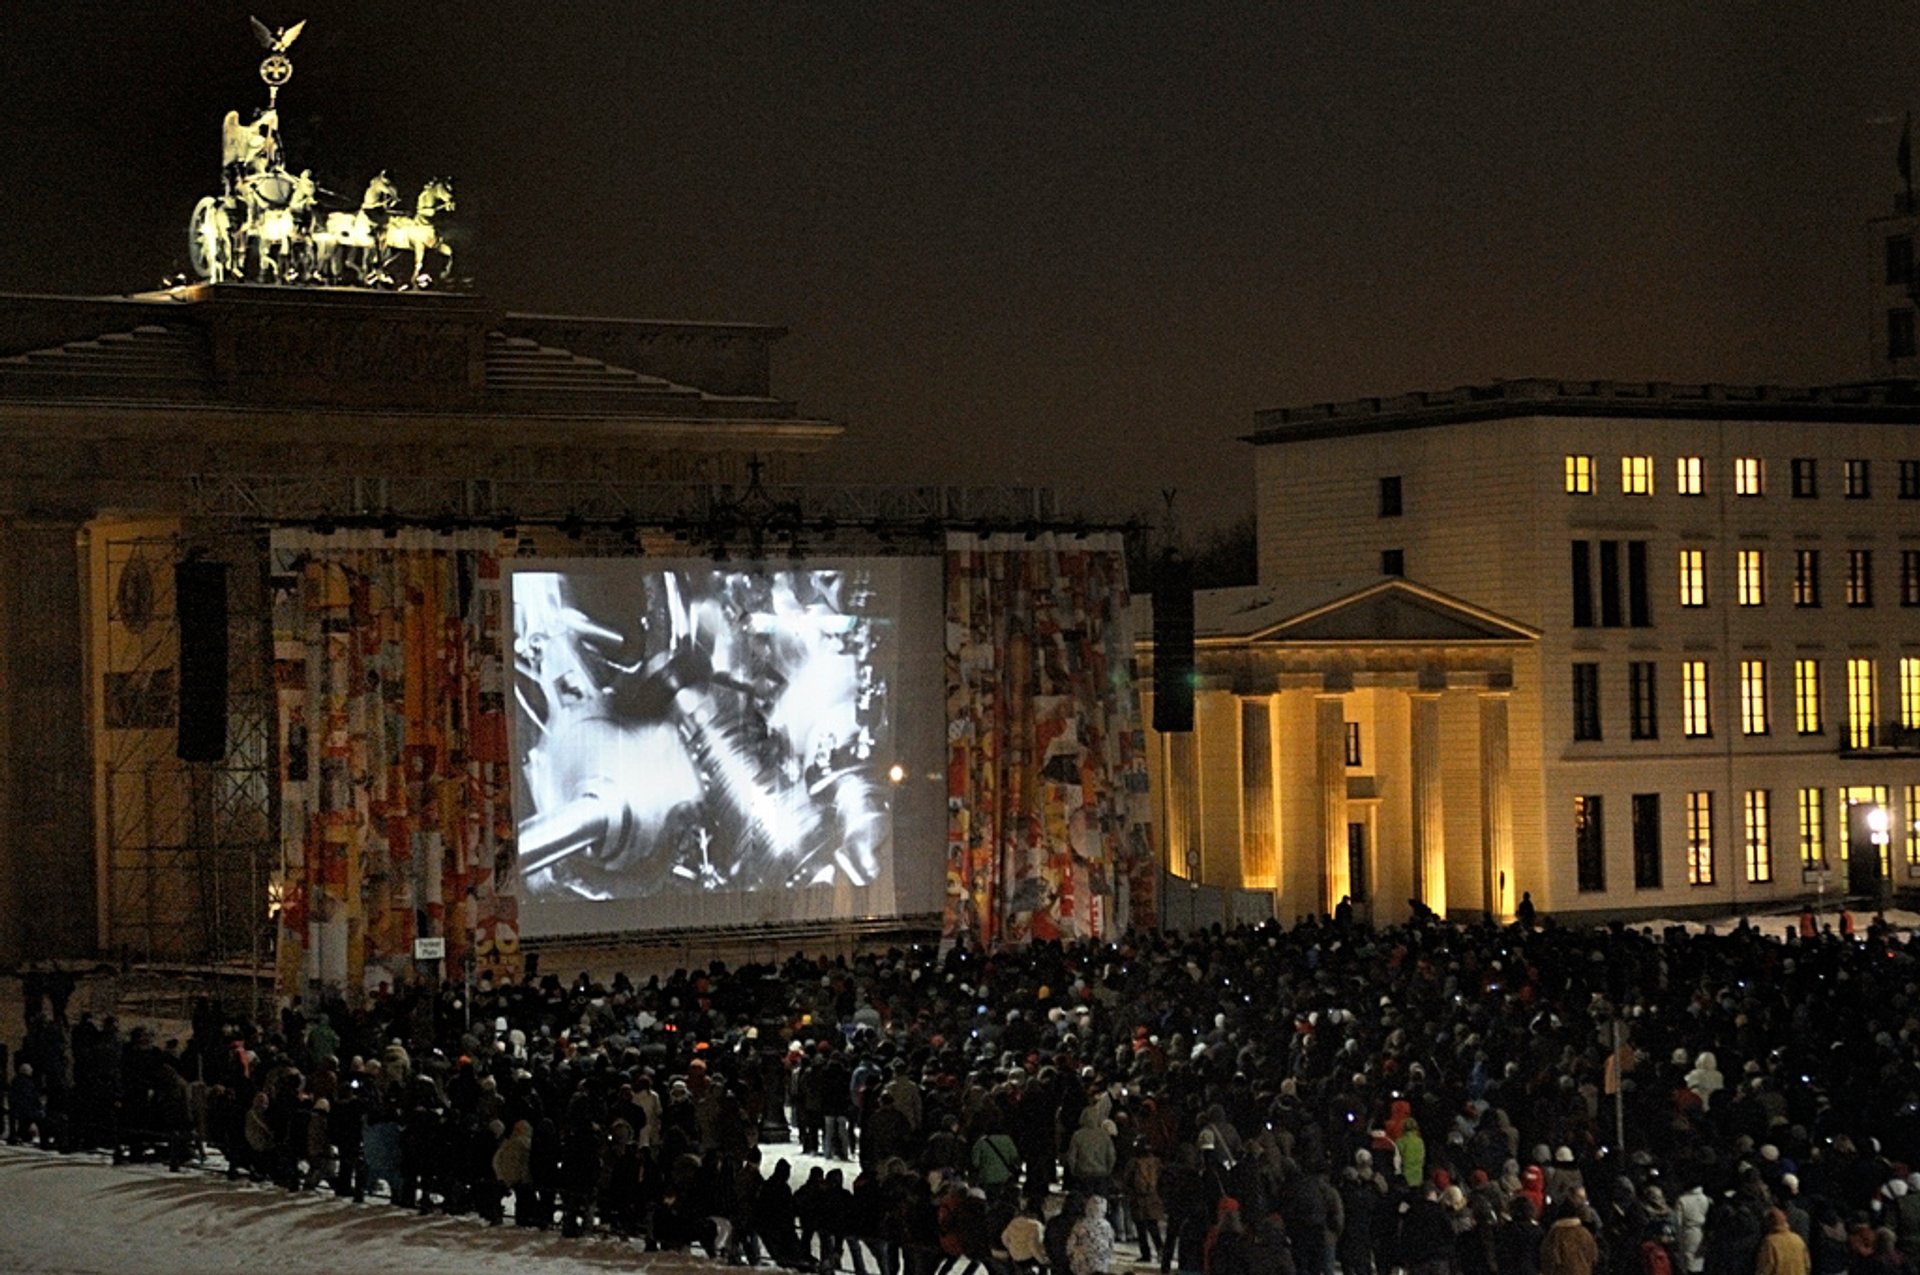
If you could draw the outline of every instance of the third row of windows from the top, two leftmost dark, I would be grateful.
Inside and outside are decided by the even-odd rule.
[[[1878,712],[1878,662],[1847,661],[1847,747],[1870,749],[1884,743]],[[1626,666],[1626,734],[1630,739],[1659,739],[1659,666],[1632,661]],[[1899,730],[1920,732],[1920,659],[1899,662]],[[1713,737],[1713,682],[1707,661],[1680,661],[1680,734],[1686,739]],[[1740,661],[1740,734],[1770,735],[1766,661]],[[1820,714],[1820,661],[1793,661],[1793,734],[1826,734]],[[1572,666],[1572,737],[1601,739],[1599,664]]]

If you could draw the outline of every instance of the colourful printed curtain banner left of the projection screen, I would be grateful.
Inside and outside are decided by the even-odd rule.
[[[273,589],[282,997],[513,972],[499,559],[276,534]]]

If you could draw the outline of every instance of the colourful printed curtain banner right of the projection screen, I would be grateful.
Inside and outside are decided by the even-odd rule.
[[[1156,924],[1119,536],[947,540],[947,933]]]

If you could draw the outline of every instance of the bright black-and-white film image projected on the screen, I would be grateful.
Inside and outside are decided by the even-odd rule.
[[[876,620],[856,568],[515,572],[522,899],[874,885]]]

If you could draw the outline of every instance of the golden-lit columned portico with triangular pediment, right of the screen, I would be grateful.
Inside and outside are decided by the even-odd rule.
[[[1306,607],[1235,593],[1196,605],[1212,709],[1160,749],[1167,866],[1273,889],[1281,920],[1342,899],[1377,922],[1409,899],[1511,916],[1509,699],[1536,634],[1407,580]]]

